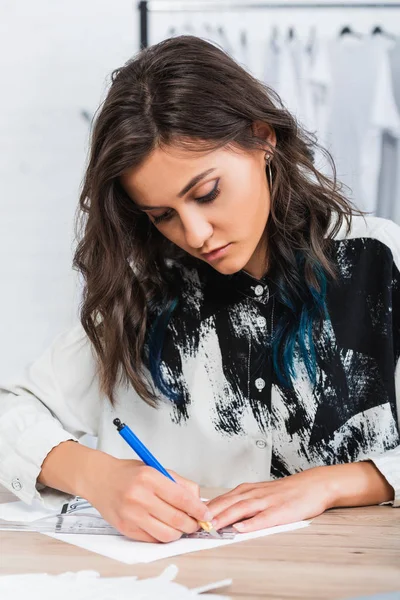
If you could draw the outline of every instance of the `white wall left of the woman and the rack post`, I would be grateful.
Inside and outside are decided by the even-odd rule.
[[[82,111],[137,51],[137,23],[132,0],[0,0],[0,379],[77,319]]]

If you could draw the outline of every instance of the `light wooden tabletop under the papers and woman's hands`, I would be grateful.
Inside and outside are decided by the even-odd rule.
[[[0,488],[0,502],[14,498]],[[305,529],[141,565],[37,533],[0,532],[0,574],[93,569],[103,576],[150,577],[171,563],[179,567],[177,581],[188,587],[232,578],[225,594],[234,600],[336,600],[400,590],[400,509],[331,510]]]

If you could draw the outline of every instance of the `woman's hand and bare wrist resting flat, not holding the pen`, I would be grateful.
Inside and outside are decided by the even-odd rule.
[[[328,508],[392,501],[395,492],[373,462],[314,467],[263,483],[242,483],[208,503],[213,525],[241,533],[311,519]]]

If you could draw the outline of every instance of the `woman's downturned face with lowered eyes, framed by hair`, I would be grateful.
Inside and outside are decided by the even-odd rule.
[[[223,274],[266,269],[270,209],[265,151],[156,149],[121,178],[171,242]]]

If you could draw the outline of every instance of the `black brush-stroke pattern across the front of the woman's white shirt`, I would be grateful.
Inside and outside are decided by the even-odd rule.
[[[183,398],[172,407],[177,426],[190,418],[193,386],[202,385],[220,435],[246,436],[257,427],[271,439],[273,477],[399,445],[399,271],[391,250],[371,238],[335,241],[334,255],[339,278],[328,286],[329,320],[316,340],[317,380],[311,384],[297,353],[293,389],[281,386],[272,369],[275,300],[268,278],[181,270],[162,354],[164,380]],[[256,285],[265,293],[257,296]],[[275,318],[282,315],[278,303],[275,310]]]

